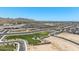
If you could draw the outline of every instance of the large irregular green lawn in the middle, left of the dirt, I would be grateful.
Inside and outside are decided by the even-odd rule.
[[[41,39],[40,38],[46,37],[46,36],[48,36],[48,32],[39,32],[39,33],[30,34],[30,35],[6,36],[6,39],[7,40],[24,39],[24,40],[27,40],[28,43],[31,44],[31,45],[37,45],[37,44],[41,43]],[[37,37],[39,37],[40,40],[38,40]]]

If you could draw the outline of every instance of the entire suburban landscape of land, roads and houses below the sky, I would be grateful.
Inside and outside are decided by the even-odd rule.
[[[79,51],[79,22],[0,18],[0,51]]]

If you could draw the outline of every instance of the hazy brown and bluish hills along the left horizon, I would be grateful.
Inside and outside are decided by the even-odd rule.
[[[4,23],[27,23],[27,22],[34,22],[33,19],[28,19],[28,18],[2,18],[0,17],[0,24]]]

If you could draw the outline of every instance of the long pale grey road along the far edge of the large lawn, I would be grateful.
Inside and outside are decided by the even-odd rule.
[[[45,32],[45,30],[38,30],[38,31],[33,31],[33,32],[16,32],[16,33],[2,33],[0,35],[29,35],[29,34],[34,34],[34,33],[39,33],[39,32]],[[49,33],[59,33],[60,31],[56,31],[56,30],[46,30],[46,32],[49,32]]]

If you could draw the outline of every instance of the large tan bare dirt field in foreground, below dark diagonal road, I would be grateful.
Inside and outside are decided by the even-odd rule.
[[[77,35],[75,35],[75,36],[77,36]],[[68,36],[66,36],[66,37],[68,37]],[[28,51],[79,51],[78,45],[76,45],[72,42],[66,41],[64,39],[61,39],[61,38],[50,36],[48,38],[45,38],[44,40],[50,41],[51,44],[29,46]]]

